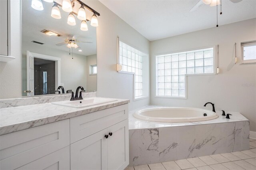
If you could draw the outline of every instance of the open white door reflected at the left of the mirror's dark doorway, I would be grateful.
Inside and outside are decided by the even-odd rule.
[[[27,51],[27,96],[34,95],[34,56]]]

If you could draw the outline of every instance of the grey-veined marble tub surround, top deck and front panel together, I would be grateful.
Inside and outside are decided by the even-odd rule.
[[[147,106],[156,107],[156,106]],[[144,109],[143,108],[143,109]],[[231,119],[192,123],[157,123],[129,113],[130,166],[248,150],[249,121],[240,113]]]

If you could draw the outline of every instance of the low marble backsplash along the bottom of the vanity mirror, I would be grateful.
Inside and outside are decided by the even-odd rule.
[[[96,97],[96,92],[82,93],[83,98]],[[71,94],[61,95],[47,95],[47,96],[34,96],[34,97],[22,97],[15,99],[1,99],[0,109],[9,107],[19,107],[26,105],[37,105],[43,103],[51,103],[56,101],[65,101],[71,98]]]

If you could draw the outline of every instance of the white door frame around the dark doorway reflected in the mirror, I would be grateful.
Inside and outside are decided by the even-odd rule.
[[[33,76],[34,79],[34,69],[32,69],[33,73],[30,74],[30,65],[34,65],[34,58],[40,58],[40,59],[46,59],[46,60],[51,60],[55,61],[55,89],[58,88],[60,85],[60,57],[54,57],[51,55],[44,55],[44,54],[39,54],[39,53],[33,53],[30,51],[27,51],[27,90],[31,91],[30,93],[27,93],[28,96],[34,95],[34,87],[33,89],[30,89],[30,75]],[[31,63],[32,62],[32,63]]]

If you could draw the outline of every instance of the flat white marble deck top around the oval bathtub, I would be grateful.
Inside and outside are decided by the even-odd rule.
[[[228,112],[232,114],[230,119],[226,119],[226,116],[222,116],[222,111],[216,111],[219,116],[217,119],[209,120],[209,121],[200,121],[200,122],[182,122],[182,123],[164,123],[164,122],[150,122],[137,119],[133,116],[133,113],[142,109],[150,109],[161,106],[145,106],[140,109],[136,109],[134,111],[129,112],[129,130],[134,129],[146,129],[146,128],[163,128],[163,127],[179,127],[179,126],[190,126],[190,125],[206,125],[206,124],[214,124],[214,123],[229,123],[229,122],[239,122],[239,121],[249,121],[244,117],[241,113],[238,112]]]

